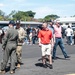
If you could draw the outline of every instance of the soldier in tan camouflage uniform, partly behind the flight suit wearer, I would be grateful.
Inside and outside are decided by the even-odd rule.
[[[23,45],[26,34],[25,34],[25,30],[21,27],[19,20],[16,21],[16,30],[18,31],[18,34],[19,34],[19,40],[18,40],[18,45],[16,49],[17,68],[20,68],[20,65],[22,63],[22,45]]]

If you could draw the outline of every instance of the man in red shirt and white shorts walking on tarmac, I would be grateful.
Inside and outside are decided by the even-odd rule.
[[[41,45],[41,51],[42,51],[42,63],[43,67],[47,68],[46,64],[46,55],[49,57],[49,68],[52,69],[52,31],[47,28],[47,23],[43,23],[42,25],[42,30],[39,31],[38,33],[39,37],[39,45]]]

